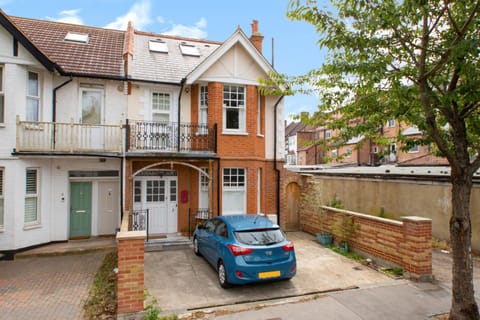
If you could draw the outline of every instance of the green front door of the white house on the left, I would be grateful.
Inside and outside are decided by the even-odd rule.
[[[92,183],[70,183],[70,238],[89,237],[92,225]]]

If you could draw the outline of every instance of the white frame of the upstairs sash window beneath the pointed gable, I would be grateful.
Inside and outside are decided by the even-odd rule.
[[[232,89],[236,89],[236,90],[232,91]],[[242,95],[242,94],[243,94],[243,99],[238,97],[238,95]],[[246,133],[247,88],[241,85],[224,84],[222,99],[223,99],[223,131],[227,133]],[[227,113],[228,111],[234,111],[234,110],[238,111],[238,128],[228,128]]]

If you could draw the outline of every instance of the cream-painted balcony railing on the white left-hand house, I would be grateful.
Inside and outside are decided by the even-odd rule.
[[[16,152],[121,153],[123,125],[20,121]]]

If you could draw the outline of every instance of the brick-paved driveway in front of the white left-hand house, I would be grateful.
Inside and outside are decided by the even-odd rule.
[[[0,261],[0,319],[82,319],[105,252]]]

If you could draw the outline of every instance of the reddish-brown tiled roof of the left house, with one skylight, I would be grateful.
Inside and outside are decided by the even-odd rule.
[[[9,18],[41,52],[58,65],[60,73],[123,77],[124,31],[13,16]],[[68,32],[88,34],[88,42],[66,41]]]

